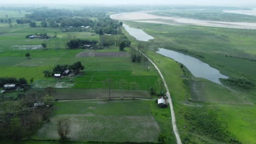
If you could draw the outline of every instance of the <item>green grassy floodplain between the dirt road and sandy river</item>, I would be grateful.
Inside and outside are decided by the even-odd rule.
[[[166,49],[181,51],[209,63],[225,75],[246,77],[246,79],[255,83],[255,62],[253,61],[255,58],[253,49],[255,46],[253,38],[256,37],[255,31],[127,23],[131,26],[142,28],[155,38],[150,40],[151,42],[148,44],[150,49],[165,47]],[[250,37],[248,37],[248,34]],[[178,128],[183,138],[187,134],[193,134],[203,141],[207,141],[207,143],[219,142],[214,140],[215,138],[213,139],[213,135],[210,135],[211,132],[205,133],[207,135],[205,136],[205,134],[200,134],[196,130],[191,130],[189,127],[193,127],[193,125],[188,124],[191,120],[186,121],[187,112],[206,111],[206,113],[217,113],[216,121],[224,124],[219,128],[226,127],[226,130],[230,131],[228,135],[231,137],[242,143],[255,143],[255,121],[253,119],[256,116],[256,107],[248,105],[255,103],[255,89],[251,91],[235,89],[234,91],[210,81],[197,79],[190,74],[187,74],[189,82],[185,80],[183,83],[184,79],[182,77],[185,76],[177,63],[154,52],[149,53],[149,56],[165,75],[168,87],[170,87],[171,95],[174,99]],[[176,70],[173,71],[173,69]],[[174,76],[176,76],[176,79],[174,79]],[[196,82],[198,90],[202,92],[199,95],[201,96],[200,98],[196,98],[193,92],[184,91],[184,87],[191,85],[193,82]],[[194,102],[187,101],[187,99],[194,99]],[[207,119],[205,120],[207,121]],[[187,128],[183,129],[184,125],[187,125]],[[210,129],[209,127],[210,125],[208,127],[206,125],[202,130],[208,130]]]

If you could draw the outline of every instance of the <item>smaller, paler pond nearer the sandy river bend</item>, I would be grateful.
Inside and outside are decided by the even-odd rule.
[[[152,36],[148,35],[147,33],[145,33],[144,31],[142,31],[142,29],[138,29],[138,28],[132,28],[128,25],[123,24],[123,27],[125,28],[125,30],[132,36],[135,37],[137,40],[140,41],[148,41],[150,39],[154,39]]]

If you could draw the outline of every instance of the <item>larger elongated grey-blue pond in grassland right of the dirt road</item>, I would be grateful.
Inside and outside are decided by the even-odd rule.
[[[219,70],[210,67],[210,65],[208,65],[207,63],[203,63],[199,59],[184,55],[183,53],[166,50],[163,48],[159,49],[157,52],[163,56],[174,59],[174,61],[182,63],[195,77],[201,77],[203,79],[207,79],[219,84],[221,84],[221,82],[219,81],[220,78],[229,78],[228,76],[220,74]]]

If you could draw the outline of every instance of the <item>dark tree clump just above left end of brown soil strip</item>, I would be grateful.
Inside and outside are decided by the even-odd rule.
[[[77,49],[79,46],[96,45],[97,43],[97,40],[72,39],[67,42],[67,46],[69,49]]]

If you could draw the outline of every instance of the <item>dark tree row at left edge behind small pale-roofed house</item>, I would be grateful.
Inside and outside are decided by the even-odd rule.
[[[27,85],[27,80],[24,77],[21,77],[20,79],[16,79],[16,77],[0,77],[0,87],[3,87],[7,83],[14,83],[25,87]]]

